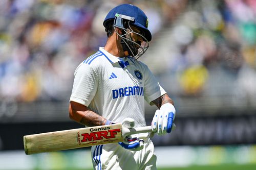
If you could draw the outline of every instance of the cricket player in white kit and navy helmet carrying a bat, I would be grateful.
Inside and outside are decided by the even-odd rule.
[[[108,36],[105,46],[75,70],[70,118],[90,127],[115,123],[143,127],[146,101],[158,108],[152,130],[160,136],[170,133],[174,103],[147,65],[137,60],[152,39],[147,16],[134,5],[122,4],[106,15],[103,26]],[[94,169],[157,169],[149,136],[134,134],[123,142],[93,146]]]

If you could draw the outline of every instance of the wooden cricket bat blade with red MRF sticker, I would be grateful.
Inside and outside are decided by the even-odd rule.
[[[27,155],[123,141],[121,124],[26,135],[23,139]]]

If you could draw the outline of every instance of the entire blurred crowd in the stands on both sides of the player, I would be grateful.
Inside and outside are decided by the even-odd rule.
[[[244,94],[256,94],[254,0],[2,0],[0,101],[69,100],[76,66],[104,45],[103,19],[122,3],[146,13],[153,44],[154,35],[177,23],[166,72],[180,74],[179,95],[200,94],[211,83],[209,71],[220,69],[238,80]]]

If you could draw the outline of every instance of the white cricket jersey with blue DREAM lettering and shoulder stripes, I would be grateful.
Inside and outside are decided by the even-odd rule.
[[[80,63],[74,75],[70,101],[112,122],[131,117],[135,127],[146,126],[144,100],[150,103],[166,93],[145,64],[115,57],[103,47]]]

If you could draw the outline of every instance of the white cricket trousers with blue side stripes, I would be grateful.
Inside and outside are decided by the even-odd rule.
[[[140,151],[126,150],[118,143],[92,147],[93,167],[97,170],[155,170],[156,160],[154,144],[150,138],[145,139],[144,148]]]

